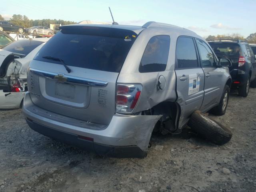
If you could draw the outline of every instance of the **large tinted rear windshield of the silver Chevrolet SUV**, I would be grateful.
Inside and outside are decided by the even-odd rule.
[[[43,58],[51,56],[68,66],[120,72],[136,37],[133,31],[116,28],[64,28],[40,49],[34,60],[62,64]]]

